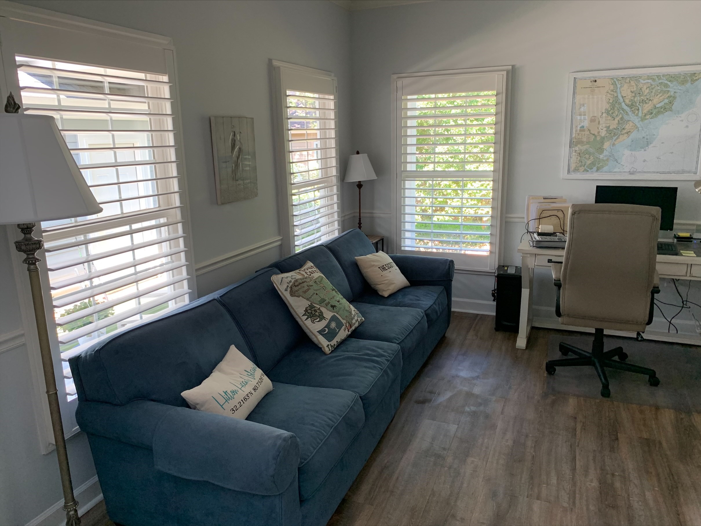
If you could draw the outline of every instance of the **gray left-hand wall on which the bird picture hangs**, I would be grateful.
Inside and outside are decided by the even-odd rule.
[[[350,140],[350,13],[327,1],[25,1],[24,4],[170,36],[177,58],[196,264],[280,235],[273,173],[269,60],[334,72],[341,159]],[[210,115],[255,119],[259,195],[217,205]],[[200,274],[205,295],[280,255],[275,247]],[[20,328],[11,257],[0,228],[0,340]],[[55,454],[39,452],[25,346],[0,353],[0,524],[21,525],[61,498]],[[95,475],[83,433],[69,439],[74,486]],[[82,504],[87,504],[83,502]]]

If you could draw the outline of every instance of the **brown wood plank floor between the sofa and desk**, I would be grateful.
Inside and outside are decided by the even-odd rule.
[[[558,331],[453,316],[329,526],[701,525],[701,414],[547,395]]]

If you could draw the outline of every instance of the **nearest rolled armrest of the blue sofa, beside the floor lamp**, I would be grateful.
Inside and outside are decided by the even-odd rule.
[[[297,476],[299,440],[271,426],[150,400],[81,402],[86,433],[151,449],[170,475],[258,495],[284,492]]]

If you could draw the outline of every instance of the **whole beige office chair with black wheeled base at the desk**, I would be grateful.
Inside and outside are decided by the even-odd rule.
[[[660,208],[640,205],[572,205],[562,263],[552,263],[557,287],[555,313],[564,325],[594,328],[592,351],[560,343],[559,350],[577,358],[549,360],[556,367],[594,367],[601,380],[601,396],[611,396],[606,367],[647,375],[658,386],[655,371],[625,363],[622,347],[604,351],[604,329],[637,332],[642,339],[653,321],[660,278],[655,269]],[[613,358],[618,358],[614,360]]]

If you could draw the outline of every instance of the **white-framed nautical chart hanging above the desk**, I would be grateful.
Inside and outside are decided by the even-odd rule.
[[[565,179],[700,179],[701,65],[572,73]]]

